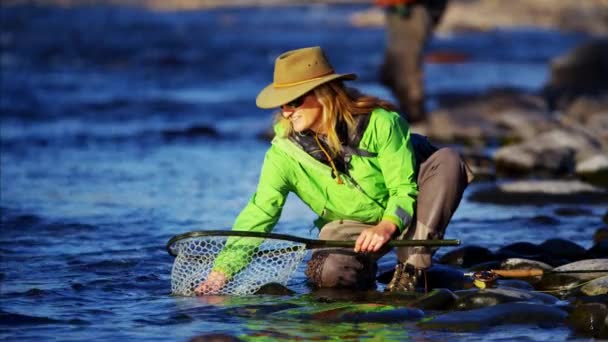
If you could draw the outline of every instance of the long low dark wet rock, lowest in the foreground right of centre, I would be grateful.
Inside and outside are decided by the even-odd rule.
[[[503,324],[557,326],[567,313],[545,304],[506,303],[470,311],[450,312],[418,323],[423,329],[473,331]]]

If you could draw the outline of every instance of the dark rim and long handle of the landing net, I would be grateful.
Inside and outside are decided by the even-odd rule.
[[[297,243],[302,243],[306,246],[306,249],[314,248],[328,248],[328,247],[355,247],[354,240],[315,240],[306,239],[298,236],[287,235],[287,234],[276,234],[276,233],[263,233],[263,232],[248,232],[240,230],[202,230],[183,233],[173,236],[169,242],[167,242],[167,252],[172,256],[177,256],[171,248],[174,243],[197,237],[206,236],[244,236],[244,237],[256,237],[264,239],[277,239],[286,240]],[[445,246],[459,246],[460,240],[389,240],[387,245],[390,247],[445,247]]]

